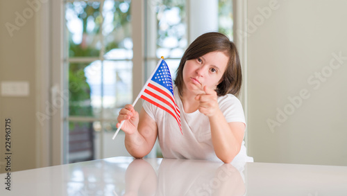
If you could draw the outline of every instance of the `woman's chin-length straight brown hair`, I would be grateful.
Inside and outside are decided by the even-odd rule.
[[[225,96],[231,93],[239,95],[242,84],[242,71],[239,62],[239,54],[234,43],[222,33],[211,32],[200,35],[189,45],[176,71],[175,84],[178,87],[178,93],[182,96],[183,91],[183,67],[187,60],[196,59],[207,53],[221,51],[229,57],[226,71],[221,77],[222,82],[218,84],[216,92],[218,96]]]

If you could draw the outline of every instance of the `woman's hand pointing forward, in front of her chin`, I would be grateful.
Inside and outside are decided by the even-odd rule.
[[[199,101],[198,111],[205,116],[214,116],[219,111],[218,103],[217,103],[217,92],[213,89],[209,89],[208,87],[203,87],[203,91],[205,93],[198,94],[195,97],[195,100]]]

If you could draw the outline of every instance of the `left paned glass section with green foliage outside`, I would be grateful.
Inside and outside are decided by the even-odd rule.
[[[117,114],[133,98],[130,1],[65,1],[65,20],[67,162],[112,157]]]

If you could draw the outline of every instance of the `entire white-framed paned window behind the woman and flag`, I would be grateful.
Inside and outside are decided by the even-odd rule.
[[[232,39],[231,0],[143,1],[144,32],[131,29],[135,21],[129,0],[63,2],[65,89],[69,89],[69,106],[64,112],[65,163],[129,155],[121,136],[118,141],[111,138],[117,130],[119,110],[137,96],[133,95],[132,37],[145,35],[142,61],[146,79],[161,56],[176,78],[180,57],[201,33],[219,30]],[[139,6],[140,2],[133,3]],[[204,25],[196,22],[201,17],[208,17]],[[145,81],[139,78],[135,82]]]

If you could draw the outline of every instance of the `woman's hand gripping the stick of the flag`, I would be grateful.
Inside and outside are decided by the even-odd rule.
[[[139,124],[139,113],[135,111],[133,105],[126,105],[118,115],[118,123],[116,127],[121,125],[121,121],[125,121],[121,126],[121,130],[123,130],[126,134],[133,134],[137,132],[137,125]]]

